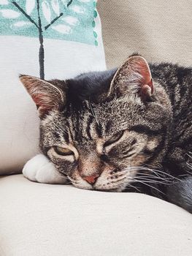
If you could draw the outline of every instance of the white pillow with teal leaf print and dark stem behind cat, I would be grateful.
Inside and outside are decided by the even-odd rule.
[[[18,75],[46,80],[106,69],[93,0],[0,0],[0,173],[39,151],[39,118]]]

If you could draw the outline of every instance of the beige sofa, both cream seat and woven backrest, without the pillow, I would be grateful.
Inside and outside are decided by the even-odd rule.
[[[191,64],[188,0],[100,0],[108,67],[139,51]],[[0,178],[0,256],[192,255],[192,216],[155,197]]]

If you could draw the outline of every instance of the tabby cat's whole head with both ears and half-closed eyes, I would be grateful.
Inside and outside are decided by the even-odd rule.
[[[171,107],[141,56],[72,80],[20,80],[39,111],[42,152],[75,187],[122,191],[161,162]]]

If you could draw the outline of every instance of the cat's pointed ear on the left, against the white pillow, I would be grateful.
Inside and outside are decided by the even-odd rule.
[[[64,91],[53,83],[30,75],[20,75],[20,81],[37,105],[39,117],[49,113],[50,110],[59,110],[65,105]]]

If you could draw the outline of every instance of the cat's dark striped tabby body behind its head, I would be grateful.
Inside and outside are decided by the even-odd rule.
[[[162,170],[178,180],[160,189],[164,199],[192,213],[192,68],[164,63],[152,64],[150,69],[153,79],[166,89],[173,114]]]

